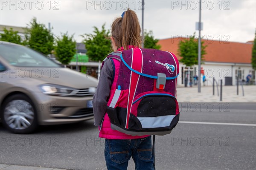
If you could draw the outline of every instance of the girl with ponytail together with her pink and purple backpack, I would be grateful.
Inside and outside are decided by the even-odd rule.
[[[112,24],[114,52],[102,62],[93,96],[94,124],[105,138],[109,170],[126,170],[131,157],[136,170],[154,170],[155,135],[171,133],[179,121],[179,63],[169,51],[140,48],[136,13],[121,16]]]

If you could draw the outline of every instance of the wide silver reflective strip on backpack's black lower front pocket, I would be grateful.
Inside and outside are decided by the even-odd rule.
[[[157,116],[157,117],[137,117],[140,120],[142,128],[156,128],[170,126],[175,115]]]

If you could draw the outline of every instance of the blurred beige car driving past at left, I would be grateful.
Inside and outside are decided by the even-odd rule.
[[[13,133],[93,119],[98,80],[22,45],[0,44],[0,116]]]

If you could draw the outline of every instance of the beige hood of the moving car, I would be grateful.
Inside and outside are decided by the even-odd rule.
[[[97,87],[98,80],[69,68],[22,68],[26,77],[38,79],[42,84],[63,85],[76,89]],[[19,72],[19,71],[18,71]]]

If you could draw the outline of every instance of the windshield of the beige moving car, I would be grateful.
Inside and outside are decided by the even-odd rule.
[[[61,67],[46,56],[20,45],[0,45],[0,56],[17,67]]]

